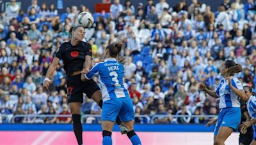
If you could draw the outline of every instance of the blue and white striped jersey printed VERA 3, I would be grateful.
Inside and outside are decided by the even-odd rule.
[[[86,79],[91,79],[95,74],[99,74],[102,100],[129,97],[129,92],[124,88],[124,66],[116,59],[105,59],[92,67],[85,75]]]

